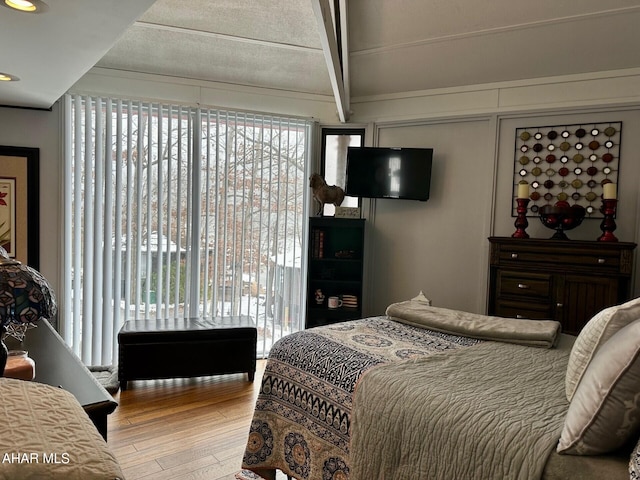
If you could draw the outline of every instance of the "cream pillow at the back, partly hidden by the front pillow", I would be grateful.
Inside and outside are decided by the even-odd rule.
[[[639,318],[640,297],[622,305],[605,308],[589,320],[578,335],[569,356],[565,381],[567,400],[571,401],[580,379],[598,349],[614,333]]]

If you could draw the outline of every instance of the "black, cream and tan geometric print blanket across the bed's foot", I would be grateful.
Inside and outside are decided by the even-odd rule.
[[[316,327],[271,348],[242,467],[300,480],[349,478],[349,434],[358,380],[377,365],[480,343],[386,316]]]

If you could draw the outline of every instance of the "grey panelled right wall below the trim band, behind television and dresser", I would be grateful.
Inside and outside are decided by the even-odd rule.
[[[520,127],[622,121],[615,235],[640,239],[640,109],[577,113],[491,115],[469,120],[430,120],[376,125],[379,146],[433,147],[431,198],[426,203],[374,200],[369,212],[368,314],[423,290],[434,305],[486,313],[487,237],[510,236],[515,130]],[[530,217],[527,233],[553,232]],[[585,219],[568,233],[595,240],[600,219]],[[636,262],[635,278],[640,278]],[[634,294],[640,295],[635,282]]]

